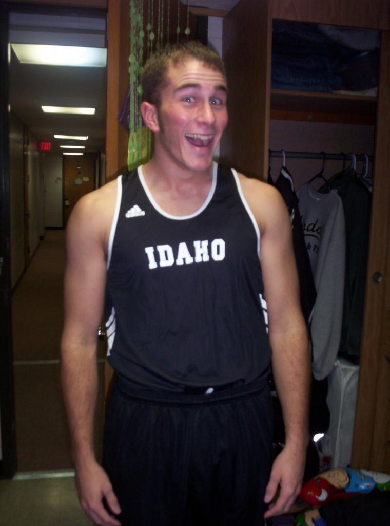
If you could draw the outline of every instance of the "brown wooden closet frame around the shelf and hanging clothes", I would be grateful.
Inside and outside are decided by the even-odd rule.
[[[377,96],[271,89],[273,20],[378,29]],[[239,0],[224,18],[229,126],[221,161],[267,179],[271,119],[374,126],[373,193],[351,464],[390,472],[390,5],[369,0]],[[354,153],[364,153],[355,151]],[[366,152],[368,153],[368,152]],[[314,174],[313,174],[314,175]]]

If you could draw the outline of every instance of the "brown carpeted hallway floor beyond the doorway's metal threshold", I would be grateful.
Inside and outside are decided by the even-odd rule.
[[[18,472],[72,467],[59,381],[64,267],[65,231],[47,230],[12,299]],[[102,410],[100,395],[100,424]]]

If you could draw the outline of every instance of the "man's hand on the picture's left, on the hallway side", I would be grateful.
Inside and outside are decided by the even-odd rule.
[[[119,502],[107,473],[97,462],[76,469],[76,484],[81,506],[95,524],[120,526],[120,522],[107,512],[102,503],[105,498],[111,512],[116,515],[120,513]]]

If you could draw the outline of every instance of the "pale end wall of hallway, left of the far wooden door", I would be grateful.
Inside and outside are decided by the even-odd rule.
[[[48,228],[63,227],[63,157],[43,154],[44,224]]]

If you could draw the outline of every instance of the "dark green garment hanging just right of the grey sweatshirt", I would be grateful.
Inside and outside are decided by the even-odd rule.
[[[340,353],[358,361],[362,346],[364,299],[372,194],[353,168],[328,180],[343,203],[345,217],[345,286]],[[325,186],[320,191],[326,192]]]

